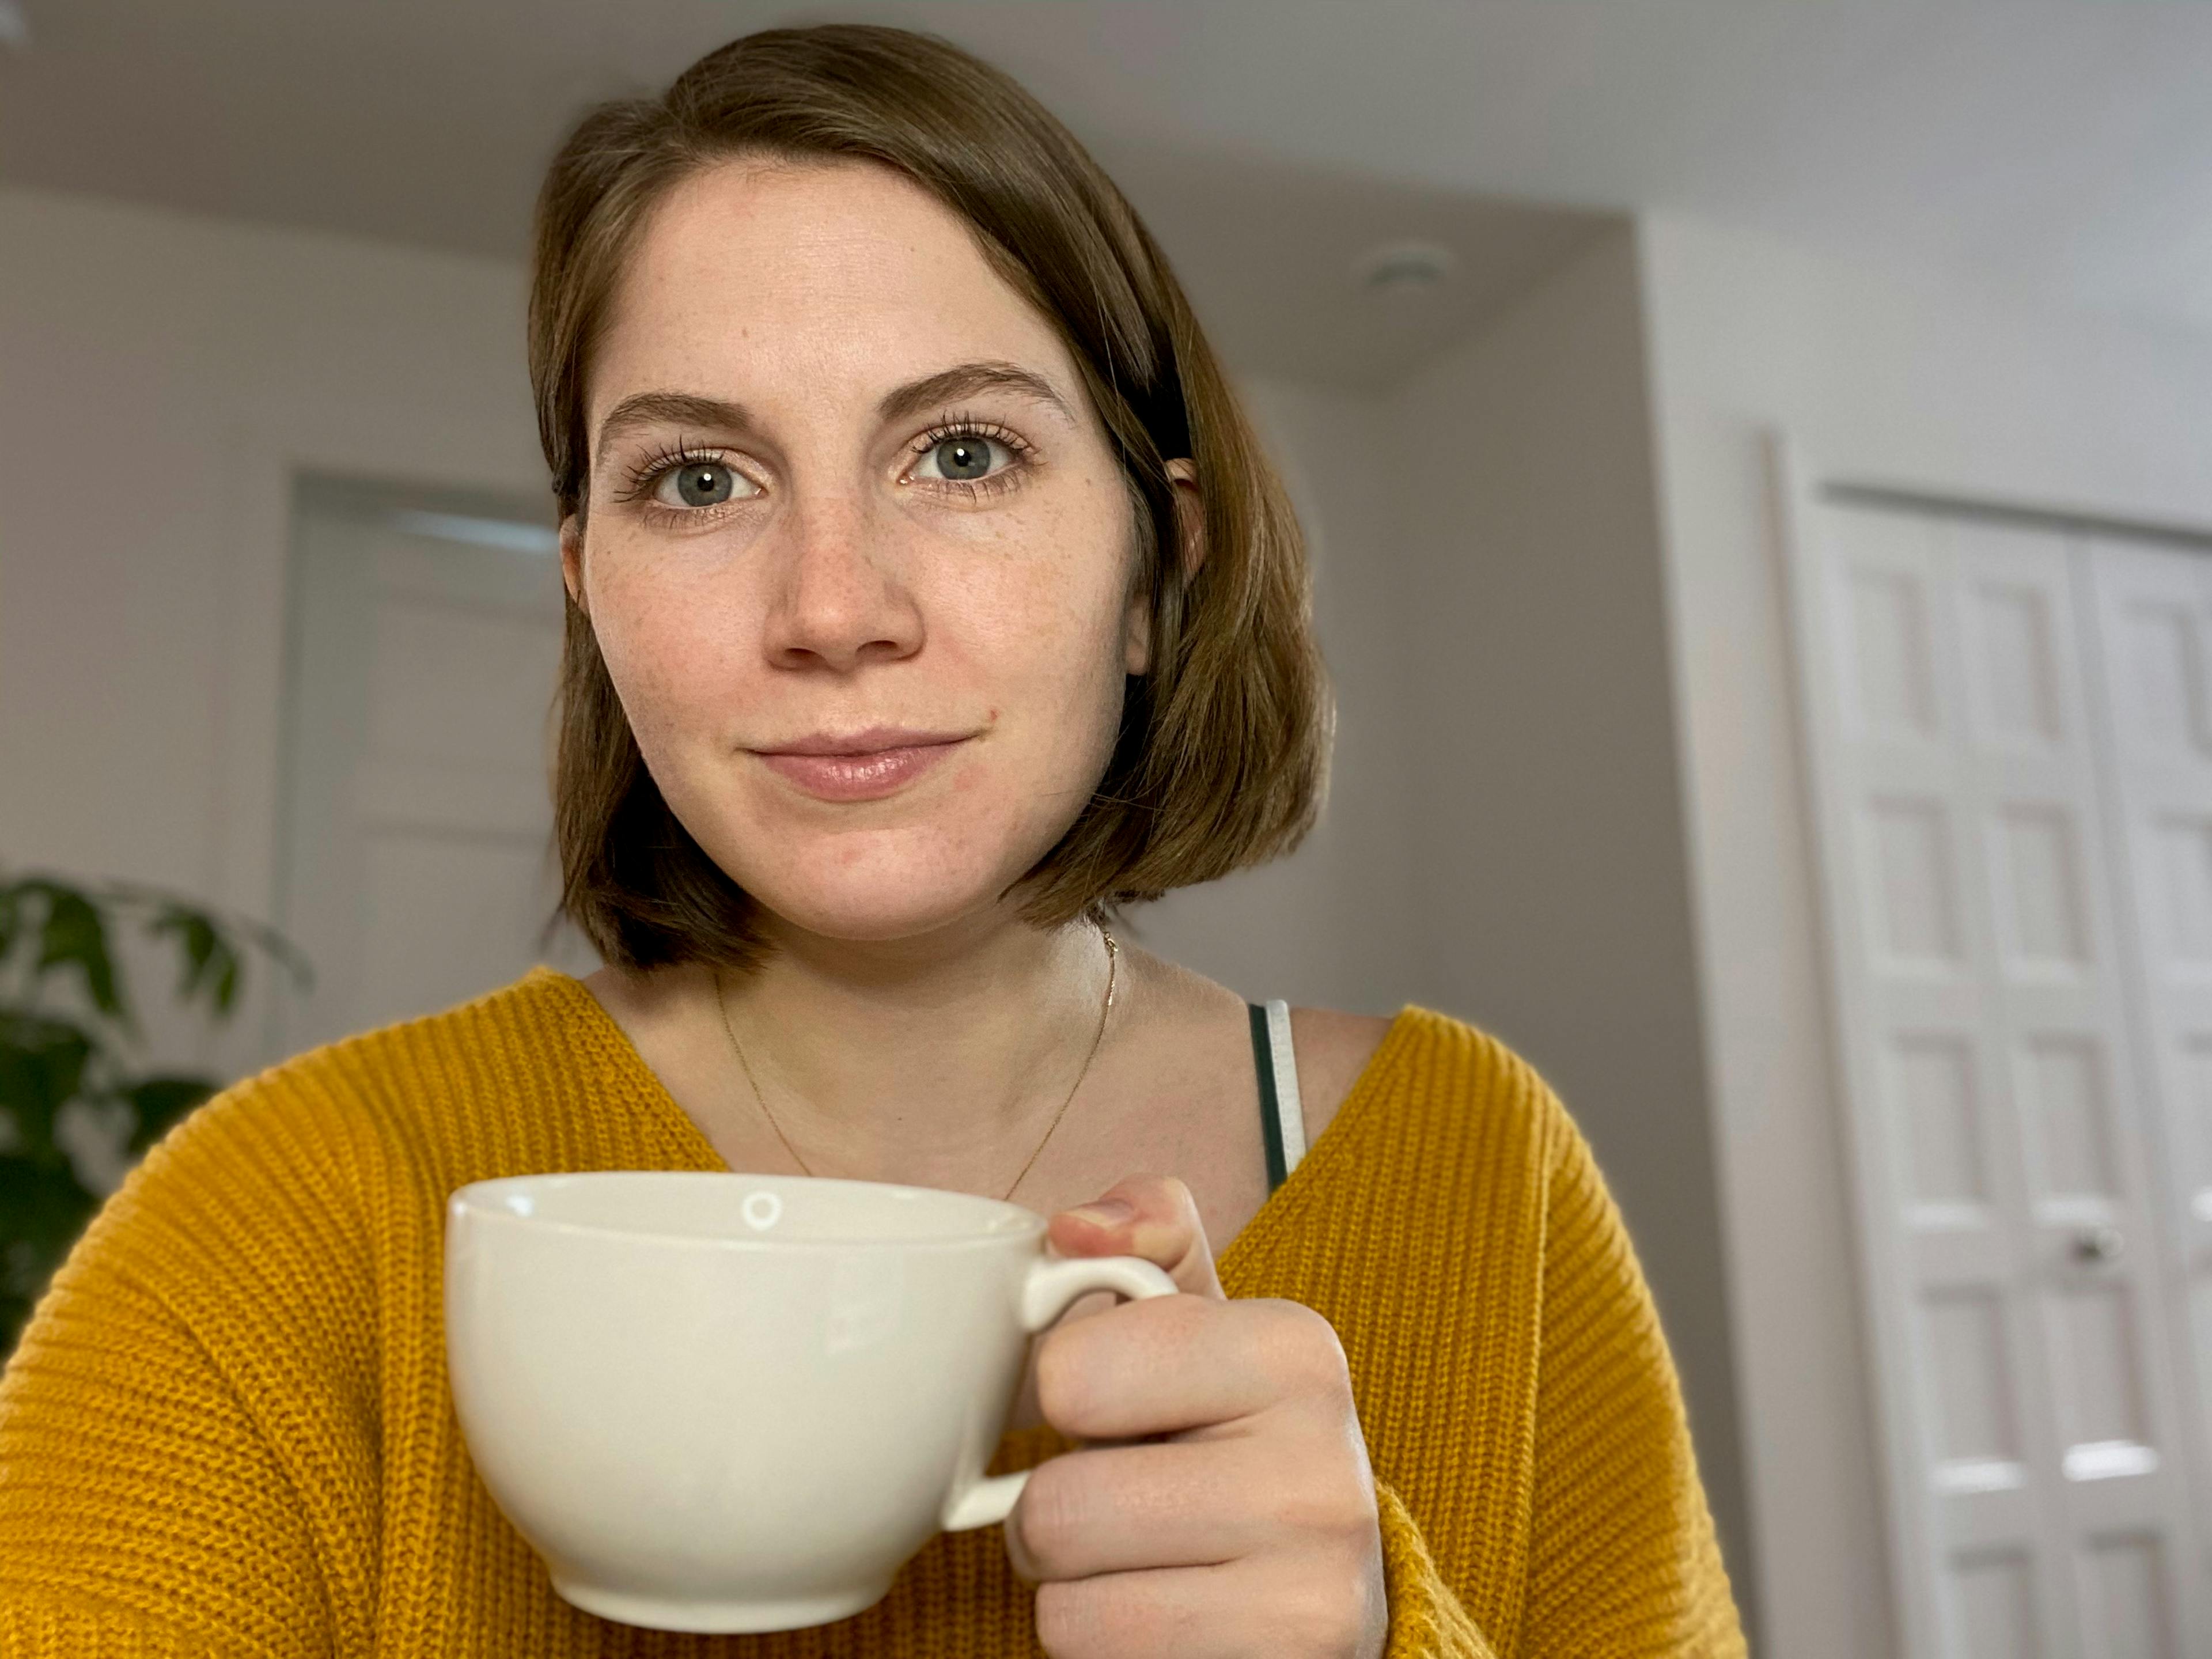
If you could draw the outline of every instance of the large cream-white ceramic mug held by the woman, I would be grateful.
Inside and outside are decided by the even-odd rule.
[[[478,1473],[562,1597],[659,1630],[845,1619],[984,1478],[1029,1338],[1135,1256],[1044,1254],[962,1192],[619,1170],[465,1186],[445,1343]]]

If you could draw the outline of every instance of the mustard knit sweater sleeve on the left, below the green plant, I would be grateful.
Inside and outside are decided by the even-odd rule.
[[[374,1458],[369,1321],[334,1316],[363,1250],[252,1088],[133,1170],[0,1376],[0,1659],[365,1646],[332,1564],[374,1535],[327,1498]]]

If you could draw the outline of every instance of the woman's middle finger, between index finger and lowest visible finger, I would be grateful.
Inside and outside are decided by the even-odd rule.
[[[1345,1546],[1374,1526],[1349,1458],[1272,1440],[1183,1440],[1071,1451],[1029,1475],[1006,1555],[1031,1584],[1148,1566],[1219,1566],[1310,1537]]]

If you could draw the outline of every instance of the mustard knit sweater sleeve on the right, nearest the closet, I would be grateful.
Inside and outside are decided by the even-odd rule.
[[[1544,1219],[1531,1659],[1741,1659],[1681,1387],[1628,1230],[1557,1102]]]

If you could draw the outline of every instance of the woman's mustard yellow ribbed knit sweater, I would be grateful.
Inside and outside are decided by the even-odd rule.
[[[217,1097],[100,1212],[0,1378],[0,1657],[1035,1652],[995,1528],[821,1630],[560,1601],[478,1482],[445,1197],[719,1170],[593,995],[538,971]],[[1736,1655],[1681,1398],[1588,1148],[1489,1037],[1407,1009],[1221,1256],[1327,1314],[1383,1498],[1391,1659]],[[1009,1436],[998,1469],[1064,1444]]]

